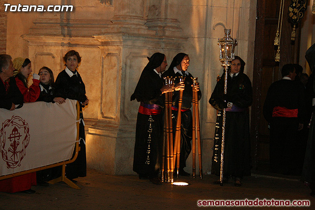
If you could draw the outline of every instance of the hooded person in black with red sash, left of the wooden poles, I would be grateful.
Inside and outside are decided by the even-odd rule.
[[[165,55],[155,53],[148,60],[130,97],[131,101],[137,99],[141,102],[137,116],[133,171],[139,174],[139,179],[150,179],[154,184],[161,184],[158,172],[163,142],[162,93],[172,91],[172,87],[163,86],[160,77],[167,66]]]

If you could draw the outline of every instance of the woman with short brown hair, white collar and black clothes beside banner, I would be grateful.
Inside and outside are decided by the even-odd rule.
[[[65,168],[66,177],[70,180],[85,177],[86,169],[86,151],[85,151],[85,133],[82,108],[88,105],[89,99],[85,95],[85,85],[77,71],[77,67],[81,62],[78,52],[70,50],[63,57],[65,69],[57,76],[55,87],[55,97],[69,98],[80,102],[80,126],[79,126],[79,151],[77,159]]]

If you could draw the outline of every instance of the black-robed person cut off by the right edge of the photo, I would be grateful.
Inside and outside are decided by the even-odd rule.
[[[315,44],[313,44],[307,51],[305,58],[309,63],[312,74],[309,78],[310,81],[314,80],[315,70]],[[315,92],[315,83],[313,84],[313,94]],[[314,107],[314,106],[313,106]],[[307,125],[304,125],[307,126]],[[302,181],[309,184],[312,192],[311,196],[315,197],[315,110],[313,110],[309,137],[307,140],[304,165],[302,170]]]

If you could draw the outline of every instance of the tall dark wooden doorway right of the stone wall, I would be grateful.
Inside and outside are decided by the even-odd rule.
[[[291,41],[288,20],[289,0],[284,0],[283,26],[280,41],[280,62],[275,61],[278,46],[274,45],[281,0],[257,0],[256,35],[253,68],[253,104],[251,117],[252,165],[255,171],[269,171],[269,129],[262,107],[269,86],[281,79],[279,69],[286,63],[298,63],[300,28]]]

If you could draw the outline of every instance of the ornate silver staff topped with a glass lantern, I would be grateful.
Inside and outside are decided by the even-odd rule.
[[[218,44],[220,47],[220,61],[224,67],[224,94],[227,93],[227,69],[231,65],[231,61],[234,60],[234,49],[237,45],[237,40],[231,38],[231,30],[224,29],[224,37],[219,38]],[[221,167],[220,167],[220,185],[223,186],[223,163],[224,163],[224,139],[225,139],[225,118],[226,110],[223,109],[222,119],[222,141],[221,141]]]

